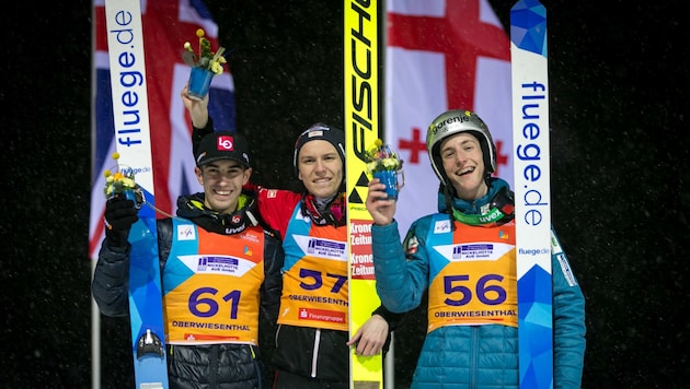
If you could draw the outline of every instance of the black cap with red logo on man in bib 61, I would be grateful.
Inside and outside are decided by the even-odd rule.
[[[250,167],[249,144],[237,132],[218,131],[205,135],[196,150],[196,166],[202,167],[220,160],[232,160]]]

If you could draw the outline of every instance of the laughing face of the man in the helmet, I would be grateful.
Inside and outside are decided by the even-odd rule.
[[[439,152],[448,182],[459,198],[474,200],[486,194],[484,158],[476,138],[460,132],[444,140]]]

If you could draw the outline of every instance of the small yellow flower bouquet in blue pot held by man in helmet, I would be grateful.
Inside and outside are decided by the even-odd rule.
[[[388,199],[396,200],[398,191],[405,185],[405,176],[402,172],[403,160],[398,157],[398,154],[388,144],[377,139],[367,149],[365,162],[369,175],[386,185]]]

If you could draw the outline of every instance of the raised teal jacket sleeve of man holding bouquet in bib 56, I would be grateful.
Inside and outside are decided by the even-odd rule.
[[[423,219],[410,227],[404,241],[407,252],[400,243],[396,221],[371,227],[376,290],[381,304],[391,313],[402,314],[418,307],[428,287],[424,225]]]

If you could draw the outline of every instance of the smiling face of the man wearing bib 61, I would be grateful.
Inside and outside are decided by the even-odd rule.
[[[239,162],[220,160],[194,169],[196,178],[204,186],[204,204],[219,213],[237,211],[238,199],[252,175]]]

